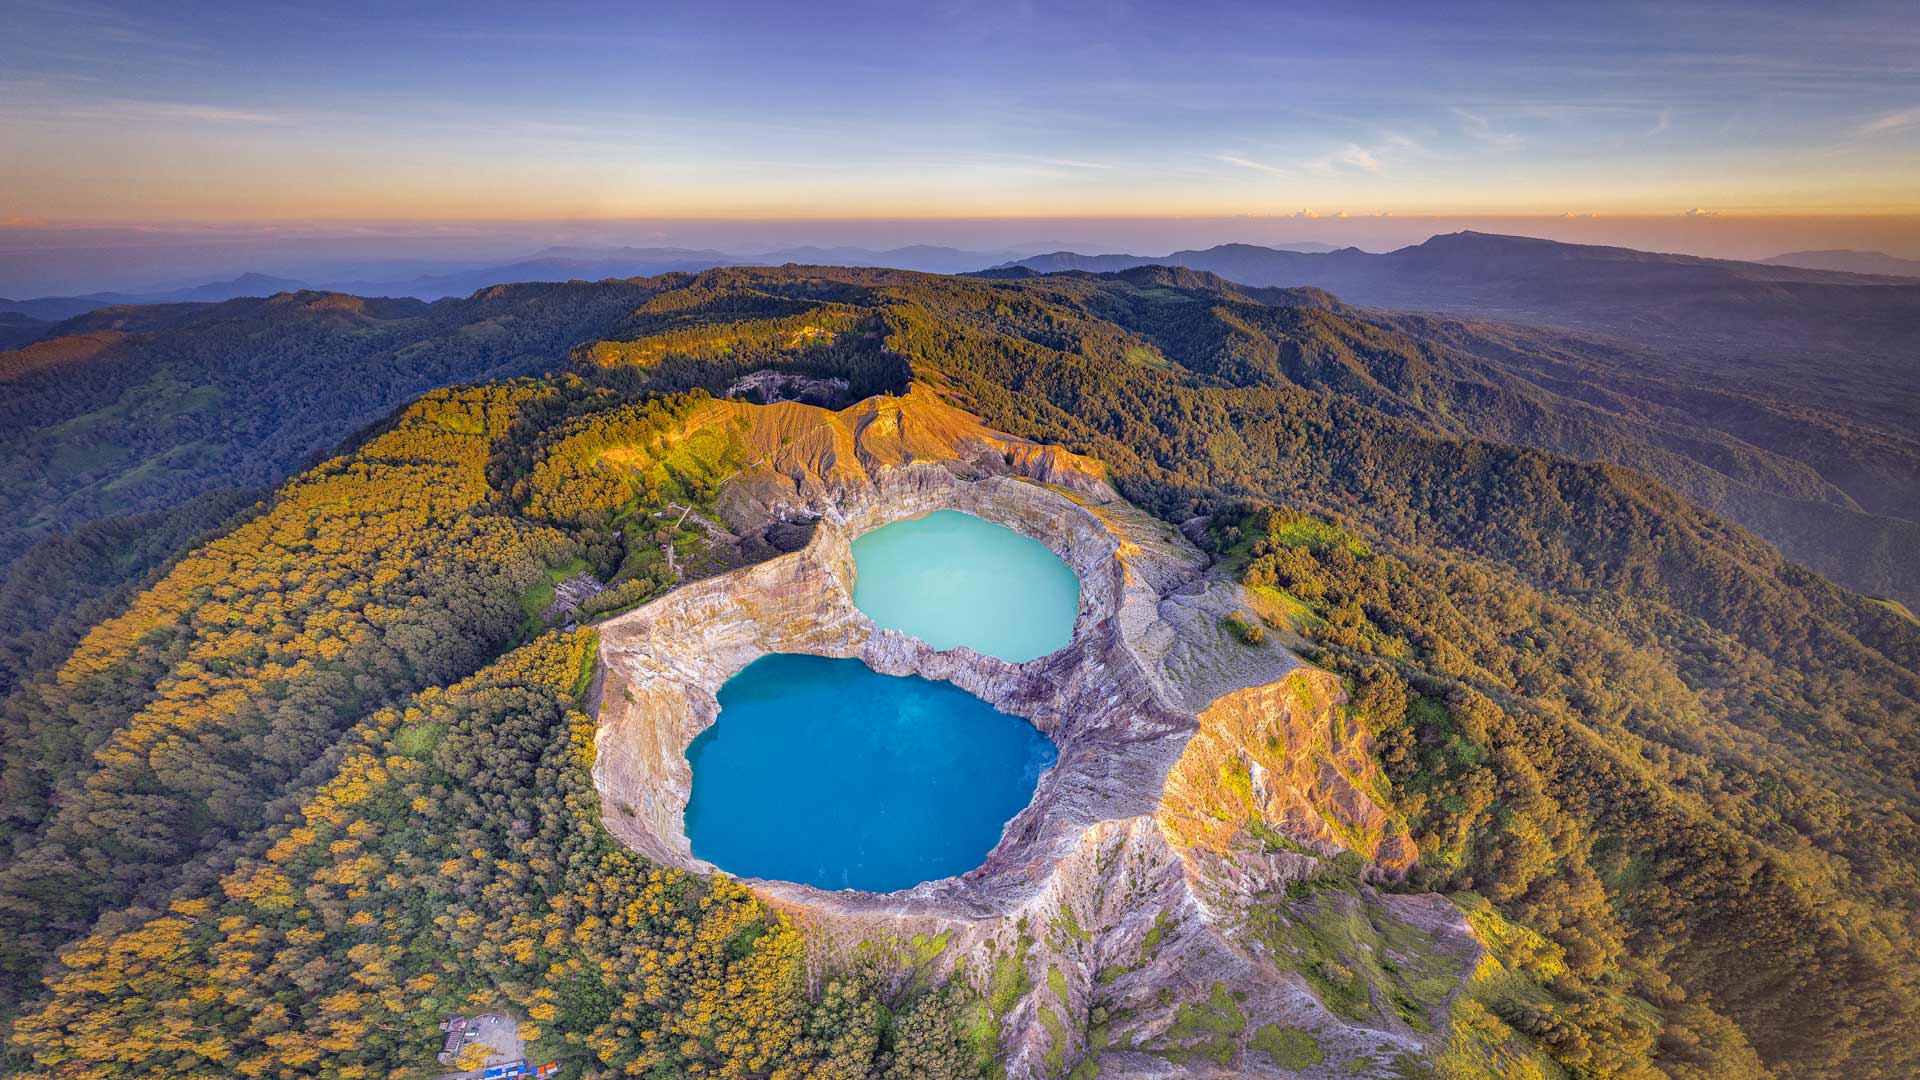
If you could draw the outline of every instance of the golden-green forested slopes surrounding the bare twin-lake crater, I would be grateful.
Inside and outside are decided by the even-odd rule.
[[[1532,338],[1415,338],[1202,275],[566,288],[593,302],[547,304],[607,327],[572,373],[428,394],[217,540],[142,561],[171,569],[71,655],[19,653],[0,705],[19,1070],[424,1074],[442,1011],[501,999],[538,1001],[541,1047],[578,1074],[989,1068],[991,1001],[870,972],[806,997],[791,926],[611,846],[580,638],[509,651],[555,575],[624,601],[672,584],[620,523],[712,498],[728,450],[641,473],[620,448],[766,367],[924,382],[1098,457],[1152,513],[1204,517],[1275,632],[1350,680],[1413,884],[1538,940],[1505,953],[1526,990],[1455,1038],[1571,1076],[1920,1068],[1920,626],[1645,473],[1482,436],[1630,444],[1676,482],[1845,509],[1791,455],[1515,384],[1490,356]],[[165,317],[81,329],[167,340]],[[367,319],[330,334],[351,348]],[[440,348],[499,356],[405,356]],[[645,1007],[622,1013],[611,988],[636,980]]]

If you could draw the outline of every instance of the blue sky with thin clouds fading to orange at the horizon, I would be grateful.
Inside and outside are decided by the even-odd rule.
[[[0,0],[12,229],[1690,211],[1920,217],[1912,0]]]

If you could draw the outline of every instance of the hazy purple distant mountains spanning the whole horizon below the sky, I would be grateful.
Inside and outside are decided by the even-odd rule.
[[[378,307],[382,317],[440,319],[465,304],[447,300],[449,296],[484,300],[482,290],[488,286],[515,281],[634,279],[776,261],[891,263],[941,271],[983,265],[989,258],[956,248],[789,248],[758,256],[687,248],[549,248],[515,263],[405,282],[344,282],[353,292],[390,300],[349,300],[319,292],[282,300],[328,311],[338,306]],[[1365,317],[1375,325],[1421,340],[1448,342],[1553,394],[1597,409],[1644,415],[1647,423],[1657,421],[1674,430],[1697,423],[1703,430],[1713,429],[1803,461],[1832,484],[1828,496],[1837,496],[1814,507],[1816,513],[1745,496],[1736,505],[1728,492],[1711,484],[1682,486],[1692,498],[1740,517],[1855,588],[1901,598],[1912,598],[1914,588],[1920,588],[1912,584],[1916,578],[1905,569],[1903,555],[1912,550],[1912,523],[1920,521],[1920,488],[1912,484],[1912,477],[1920,475],[1920,436],[1912,434],[1910,425],[1920,415],[1920,379],[1914,371],[1914,357],[1920,357],[1916,279],[1486,233],[1452,233],[1386,254],[1254,244],[1167,256],[1052,252],[1000,259],[993,269],[975,273],[993,279],[1043,273],[1087,277],[1133,273],[1150,263],[1167,263],[1240,286],[1329,290],[1340,304],[1373,309]],[[225,306],[182,302],[236,292],[280,292],[298,284],[244,275],[154,298],[104,294],[27,302],[13,306],[12,313],[0,307],[0,348],[46,342],[44,348],[36,346],[33,357],[27,350],[8,354],[33,367],[73,350],[104,348],[108,336],[144,334],[179,319],[225,317]],[[1315,304],[1334,304],[1331,296],[1317,296],[1321,300]],[[60,304],[94,309],[136,300],[163,304],[98,309],[58,325],[44,321],[48,315],[61,317]],[[1290,304],[1309,300],[1296,294]],[[1467,340],[1455,329],[1457,319],[1572,331],[1584,344],[1567,346],[1523,336],[1513,327],[1480,323]],[[60,342],[65,344],[54,348]],[[1530,434],[1511,430],[1501,438],[1528,442]],[[1713,457],[1718,452],[1701,454]],[[1774,490],[1772,480],[1759,473],[1726,461],[1720,467],[1743,490]]]

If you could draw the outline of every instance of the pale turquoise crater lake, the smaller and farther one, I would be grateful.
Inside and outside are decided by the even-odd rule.
[[[1066,648],[1079,577],[1046,544],[937,509],[852,542],[852,603],[937,650],[968,646],[1025,663]]]

